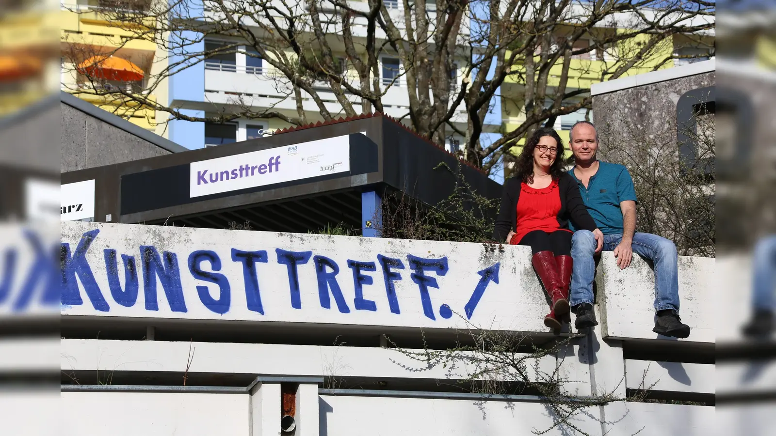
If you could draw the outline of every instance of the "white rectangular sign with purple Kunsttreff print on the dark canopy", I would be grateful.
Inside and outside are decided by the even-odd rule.
[[[350,171],[348,135],[190,164],[189,196],[273,185]]]

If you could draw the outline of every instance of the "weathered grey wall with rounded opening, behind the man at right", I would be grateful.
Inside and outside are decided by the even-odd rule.
[[[680,254],[714,256],[715,106],[705,103],[715,101],[715,72],[659,73],[594,95],[598,157],[629,169],[637,231],[674,240]]]

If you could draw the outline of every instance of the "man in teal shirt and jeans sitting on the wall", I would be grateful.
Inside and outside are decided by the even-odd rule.
[[[655,265],[655,328],[657,334],[688,337],[690,327],[679,318],[679,276],[677,248],[673,242],[654,234],[636,233],[636,190],[628,169],[620,164],[601,162],[598,133],[587,121],[574,124],[570,147],[575,166],[569,171],[577,180],[587,211],[604,234],[605,251],[614,251],[617,265],[628,268],[633,252]],[[579,230],[572,238],[570,305],[577,314],[577,330],[598,325],[593,313],[593,279],[597,247],[593,234]]]

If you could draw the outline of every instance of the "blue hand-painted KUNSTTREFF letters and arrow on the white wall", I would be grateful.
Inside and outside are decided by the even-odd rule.
[[[98,280],[95,279],[95,271],[97,271],[104,274],[102,280],[106,282],[103,282],[103,286],[107,284],[107,290],[109,290],[109,294],[106,295],[109,295],[116,302],[117,307],[134,307],[137,305],[137,297],[140,292],[140,277],[142,276],[144,305],[140,306],[144,306],[145,310],[160,311],[158,285],[161,284],[161,291],[163,291],[165,296],[163,298],[166,298],[169,310],[172,312],[187,313],[189,307],[194,304],[192,297],[196,300],[196,296],[199,296],[199,303],[202,303],[202,306],[199,307],[202,309],[197,310],[200,312],[209,310],[212,313],[223,315],[229,313],[234,306],[233,302],[236,298],[232,294],[234,274],[239,276],[239,271],[241,271],[245,300],[240,305],[245,304],[251,312],[265,315],[268,308],[266,303],[262,302],[262,292],[259,283],[262,280],[269,280],[269,282],[265,282],[265,285],[267,283],[277,283],[278,265],[284,265],[286,267],[285,276],[288,279],[287,289],[289,291],[289,300],[286,301],[289,301],[290,306],[296,310],[302,309],[303,295],[310,296],[309,292],[314,292],[313,289],[317,285],[317,304],[320,304],[322,309],[331,310],[331,299],[333,298],[338,313],[352,313],[352,308],[348,304],[348,299],[352,296],[352,307],[356,311],[376,312],[379,304],[382,303],[377,301],[379,298],[376,299],[375,294],[372,292],[367,292],[372,297],[367,298],[365,296],[365,286],[374,285],[375,278],[372,273],[382,273],[385,299],[380,300],[388,303],[387,308],[390,310],[390,313],[401,314],[401,297],[401,299],[404,299],[404,305],[410,304],[411,306],[407,307],[413,309],[418,315],[422,308],[424,317],[428,320],[437,320],[437,315],[443,319],[449,319],[453,314],[451,306],[446,303],[439,305],[438,313],[435,312],[437,309],[435,309],[431,295],[431,289],[439,289],[442,292],[436,292],[435,299],[449,299],[452,297],[449,292],[444,292],[445,286],[439,281],[439,278],[448,275],[449,272],[449,260],[446,256],[442,258],[421,258],[413,254],[406,255],[407,269],[411,270],[410,279],[414,285],[417,285],[417,291],[415,292],[420,292],[420,303],[411,303],[417,302],[417,294],[414,292],[407,294],[412,289],[412,285],[409,288],[407,285],[401,285],[403,278],[400,270],[405,269],[404,261],[400,258],[391,258],[383,254],[376,254],[376,261],[348,259],[346,264],[350,268],[351,274],[341,275],[341,267],[337,261],[324,255],[314,254],[313,251],[287,251],[275,248],[277,263],[274,264],[273,262],[275,265],[273,267],[272,265],[259,265],[268,264],[269,262],[267,251],[265,250],[243,251],[237,248],[230,248],[230,254],[227,255],[227,258],[234,262],[234,264],[223,263],[221,258],[223,252],[219,254],[218,251],[213,250],[194,250],[185,257],[184,272],[188,269],[190,276],[182,277],[178,263],[178,254],[172,251],[159,250],[154,245],[140,245],[134,254],[120,254],[114,248],[105,248],[102,250],[102,256],[98,258],[99,260],[88,256],[89,248],[95,238],[98,237],[98,234],[98,229],[85,232],[72,252],[70,244],[66,242],[61,243],[61,303],[63,307],[82,306],[84,299],[81,291],[83,291],[95,310],[100,312],[109,312],[111,310],[111,306],[99,287]],[[127,247],[125,246],[123,250],[126,251],[126,249]],[[41,250],[40,259],[45,258],[43,253],[44,251]],[[99,254],[94,253],[93,255]],[[12,265],[16,261],[15,256],[16,254],[12,251],[5,253],[5,275],[0,280],[0,303],[8,294],[7,287],[8,283],[12,281]],[[102,270],[102,265],[90,265],[90,261],[104,261],[105,269]],[[140,265],[138,265],[138,261]],[[307,265],[310,263],[312,265]],[[43,265],[42,260],[41,265]],[[498,283],[499,268],[500,264],[496,263],[477,272],[480,275],[480,280],[464,307],[467,318],[472,318],[476,306],[480,303],[480,299],[483,298],[487,285],[490,282]],[[263,273],[260,273],[260,270]],[[272,270],[275,272],[272,274],[272,277],[269,277],[266,272]],[[280,274],[282,275],[282,272]],[[307,283],[304,289],[302,289],[300,275],[305,277],[304,283]],[[50,280],[46,275],[40,275],[40,277],[38,280]],[[310,279],[313,277],[314,281],[312,283],[315,283],[314,285],[310,282]],[[60,275],[57,275],[57,280],[59,278]],[[192,283],[192,279],[199,283]],[[350,279],[352,279],[352,288],[349,288]],[[30,275],[28,282],[30,280],[32,280],[32,275]],[[32,285],[30,284],[29,286]],[[401,296],[397,293],[397,285],[400,285]],[[193,294],[194,289],[196,289],[196,296]],[[276,286],[271,288],[271,290],[272,293],[269,295],[270,301],[273,304],[277,304],[279,301],[278,297],[282,296],[282,293],[278,294],[278,291],[285,292],[285,290],[277,289]],[[348,296],[350,292],[352,294]],[[185,301],[187,297],[190,300],[189,302]],[[241,297],[237,301],[242,301]],[[314,307],[310,307],[310,309],[314,309]],[[168,309],[165,307],[162,310],[166,311]]]

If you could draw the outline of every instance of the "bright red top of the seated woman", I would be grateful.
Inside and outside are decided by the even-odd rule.
[[[560,212],[560,190],[558,182],[553,180],[546,188],[535,189],[522,182],[517,206],[517,225],[510,244],[518,244],[529,232],[543,230],[553,233],[561,229],[558,223]]]

